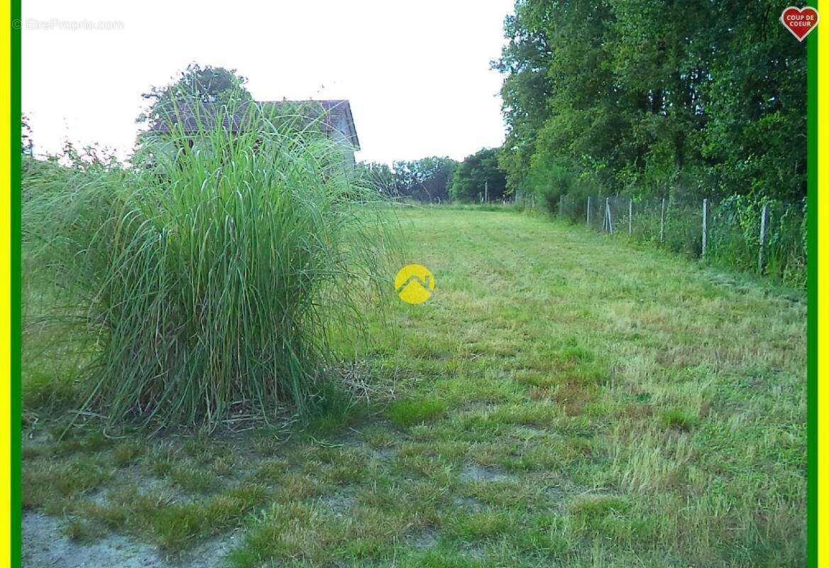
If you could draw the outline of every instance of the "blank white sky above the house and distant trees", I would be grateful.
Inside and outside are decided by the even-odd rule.
[[[503,141],[489,61],[511,11],[512,0],[24,0],[22,108],[36,153],[69,138],[124,157],[141,93],[197,61],[238,70],[255,100],[350,100],[358,160],[460,159]],[[43,27],[103,21],[123,29]]]

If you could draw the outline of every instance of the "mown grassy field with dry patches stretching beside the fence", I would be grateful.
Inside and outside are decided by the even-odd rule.
[[[401,222],[434,297],[302,427],[58,440],[71,373],[28,362],[27,516],[185,566],[805,565],[803,294],[511,211]]]

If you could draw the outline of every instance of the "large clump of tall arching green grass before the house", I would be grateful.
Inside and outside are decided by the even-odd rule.
[[[147,138],[133,167],[24,179],[27,279],[91,346],[85,405],[112,422],[307,409],[332,337],[357,340],[389,278],[390,208],[315,121],[251,106],[231,134],[203,118],[196,137]]]

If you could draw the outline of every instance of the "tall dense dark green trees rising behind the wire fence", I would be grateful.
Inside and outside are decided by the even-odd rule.
[[[800,201],[806,51],[785,5],[761,4],[516,2],[493,62],[507,187],[555,199],[563,160],[594,195],[668,195],[684,178],[696,197]]]

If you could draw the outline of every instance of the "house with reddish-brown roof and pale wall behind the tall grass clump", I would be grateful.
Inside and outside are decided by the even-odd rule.
[[[347,159],[352,164],[355,163],[354,153],[360,149],[360,139],[357,138],[348,100],[266,100],[254,104],[259,109],[273,111],[278,115],[299,115],[306,124],[319,124],[322,132],[339,144],[345,150]],[[163,134],[169,134],[172,129],[182,129],[183,134],[192,136],[192,140],[195,140],[206,129],[213,128],[219,116],[223,128],[236,132],[244,128],[250,114],[245,109],[230,114],[216,103],[180,104],[165,120],[153,124],[150,133],[163,137]]]

